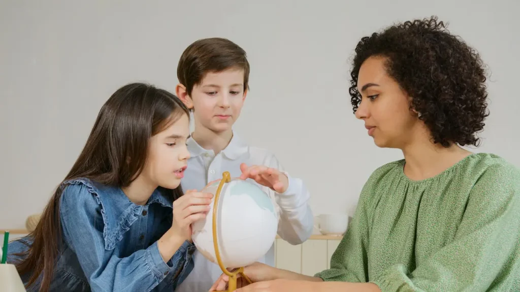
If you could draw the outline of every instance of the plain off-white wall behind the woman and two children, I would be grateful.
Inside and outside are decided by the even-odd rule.
[[[41,211],[116,88],[173,91],[181,52],[203,37],[248,52],[251,92],[235,129],[305,180],[316,214],[351,210],[372,170],[401,158],[375,147],[347,91],[358,39],[396,21],[438,15],[480,51],[491,115],[476,151],[520,166],[518,3],[2,0],[0,228]]]

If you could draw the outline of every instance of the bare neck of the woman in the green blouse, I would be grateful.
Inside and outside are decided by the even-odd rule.
[[[444,147],[425,137],[409,143],[402,149],[402,153],[406,161],[405,175],[411,180],[434,177],[472,154],[457,144]]]

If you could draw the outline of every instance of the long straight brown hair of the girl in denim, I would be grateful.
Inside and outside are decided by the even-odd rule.
[[[45,207],[36,229],[29,234],[32,244],[16,256],[20,275],[30,275],[26,288],[42,277],[40,291],[47,292],[62,244],[59,218],[60,197],[64,182],[88,178],[102,184],[127,187],[142,171],[147,160],[148,140],[189,111],[170,92],[143,83],[127,84],[102,106],[85,147],[58,185]],[[183,195],[172,190],[173,200]],[[43,273],[43,275],[42,275]]]

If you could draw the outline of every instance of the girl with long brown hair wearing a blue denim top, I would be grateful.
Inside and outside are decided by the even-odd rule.
[[[9,244],[28,291],[174,290],[212,196],[183,195],[188,137],[188,109],[170,92],[116,90],[36,230]]]

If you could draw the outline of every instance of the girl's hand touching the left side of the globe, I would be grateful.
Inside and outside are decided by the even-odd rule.
[[[206,218],[213,194],[189,190],[173,202],[172,232],[191,242],[191,223]]]

